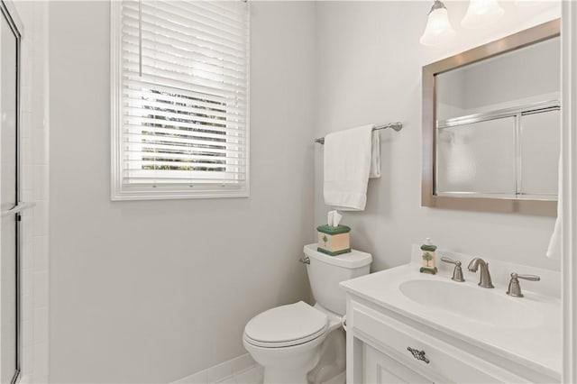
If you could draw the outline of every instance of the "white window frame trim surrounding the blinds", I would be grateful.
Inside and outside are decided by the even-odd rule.
[[[236,0],[241,1],[241,0]],[[110,142],[111,142],[111,185],[110,198],[112,201],[122,200],[164,200],[164,199],[192,199],[192,198],[223,198],[223,197],[250,197],[250,111],[251,111],[251,13],[250,6],[246,9],[246,126],[243,131],[245,137],[244,174],[242,184],[195,184],[182,185],[135,185],[129,186],[123,182],[123,68],[122,68],[122,1],[110,1]]]

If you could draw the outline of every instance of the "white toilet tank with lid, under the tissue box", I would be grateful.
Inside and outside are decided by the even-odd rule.
[[[316,243],[305,245],[308,280],[316,303],[337,315],[346,313],[346,298],[339,283],[367,275],[371,268],[370,253],[351,251],[338,256],[329,256],[316,251]]]

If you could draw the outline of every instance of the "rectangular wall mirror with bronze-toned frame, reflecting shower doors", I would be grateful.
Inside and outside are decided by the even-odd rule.
[[[423,206],[555,215],[559,26],[423,68]]]

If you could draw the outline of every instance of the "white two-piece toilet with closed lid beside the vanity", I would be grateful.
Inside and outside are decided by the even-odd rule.
[[[329,256],[305,246],[315,306],[299,301],[252,317],[244,348],[264,367],[264,383],[344,382],[346,302],[339,282],[369,273],[371,254]]]

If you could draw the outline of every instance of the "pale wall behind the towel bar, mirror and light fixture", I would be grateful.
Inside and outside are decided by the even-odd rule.
[[[459,51],[555,16],[558,7],[517,8],[486,30],[460,26],[465,2],[447,2],[457,36],[441,47],[418,39],[431,2],[319,2],[316,9],[316,136],[364,123],[401,121],[399,133],[380,133],[382,176],[369,183],[365,212],[346,213],[353,247],[373,254],[372,270],[409,261],[411,243],[435,244],[481,257],[559,269],[545,258],[554,219],[421,206],[421,68]],[[315,223],[325,223],[322,147],[316,147]]]

